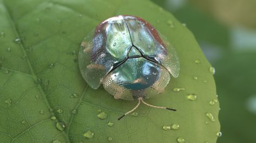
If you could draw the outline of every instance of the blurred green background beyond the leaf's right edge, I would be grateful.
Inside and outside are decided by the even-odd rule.
[[[256,1],[152,1],[187,25],[216,69],[217,142],[256,142]]]

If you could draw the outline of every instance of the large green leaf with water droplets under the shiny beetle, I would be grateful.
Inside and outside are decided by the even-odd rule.
[[[146,0],[0,2],[1,141],[216,142],[219,103],[209,104],[217,99],[211,65],[193,34],[170,13]],[[175,47],[180,76],[147,102],[177,112],[141,105],[137,116],[117,121],[137,101],[114,99],[102,87],[93,90],[84,82],[77,63],[80,42],[102,20],[115,15],[147,20]],[[188,95],[197,98],[193,101]],[[99,118],[100,112],[107,118]],[[215,121],[206,116],[208,112]],[[178,130],[163,130],[173,124],[179,125]]]

